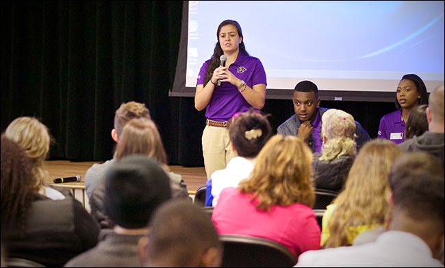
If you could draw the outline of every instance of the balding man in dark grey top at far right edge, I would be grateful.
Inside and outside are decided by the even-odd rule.
[[[428,131],[412,137],[399,146],[404,152],[418,150],[429,152],[439,157],[444,167],[444,85],[440,85],[429,94],[427,120]]]

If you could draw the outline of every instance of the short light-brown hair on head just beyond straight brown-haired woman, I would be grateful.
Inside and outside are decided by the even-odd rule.
[[[122,133],[125,124],[133,118],[151,119],[150,111],[145,107],[144,103],[129,101],[127,103],[122,103],[116,110],[114,115],[114,129],[116,129],[118,137],[120,137],[120,133]]]

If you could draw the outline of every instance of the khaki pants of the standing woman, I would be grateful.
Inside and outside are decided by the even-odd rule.
[[[229,139],[229,129],[205,126],[202,136],[203,157],[207,179],[216,170],[223,170],[230,159],[235,157]]]

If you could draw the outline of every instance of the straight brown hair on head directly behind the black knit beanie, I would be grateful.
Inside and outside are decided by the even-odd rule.
[[[157,126],[149,118],[133,118],[125,124],[116,146],[116,159],[127,155],[148,155],[167,164],[164,144]]]

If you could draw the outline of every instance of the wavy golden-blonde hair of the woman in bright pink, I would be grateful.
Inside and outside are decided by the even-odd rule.
[[[259,151],[251,176],[238,190],[259,198],[258,209],[301,203],[314,206],[312,150],[295,136],[273,135]]]

